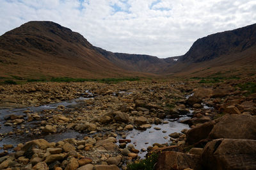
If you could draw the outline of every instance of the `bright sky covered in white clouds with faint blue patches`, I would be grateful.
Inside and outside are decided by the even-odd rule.
[[[196,39],[256,23],[255,0],[0,0],[0,35],[51,20],[112,52],[185,54]]]

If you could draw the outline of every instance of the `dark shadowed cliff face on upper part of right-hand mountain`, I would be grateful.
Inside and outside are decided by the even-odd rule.
[[[182,57],[184,62],[200,63],[223,55],[243,52],[256,44],[256,24],[200,38]],[[256,48],[255,48],[256,49]]]

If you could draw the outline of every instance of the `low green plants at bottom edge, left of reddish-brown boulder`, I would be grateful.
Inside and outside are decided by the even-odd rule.
[[[157,163],[158,153],[151,153],[147,158],[129,164],[128,170],[153,170]]]

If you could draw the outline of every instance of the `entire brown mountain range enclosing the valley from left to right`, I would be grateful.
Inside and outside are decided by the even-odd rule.
[[[110,52],[49,21],[31,21],[0,36],[1,77],[255,75],[256,24],[200,38],[183,56]]]

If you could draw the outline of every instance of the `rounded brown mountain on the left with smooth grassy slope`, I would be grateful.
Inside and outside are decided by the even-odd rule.
[[[82,35],[48,21],[31,21],[0,36],[0,76],[124,77]]]

